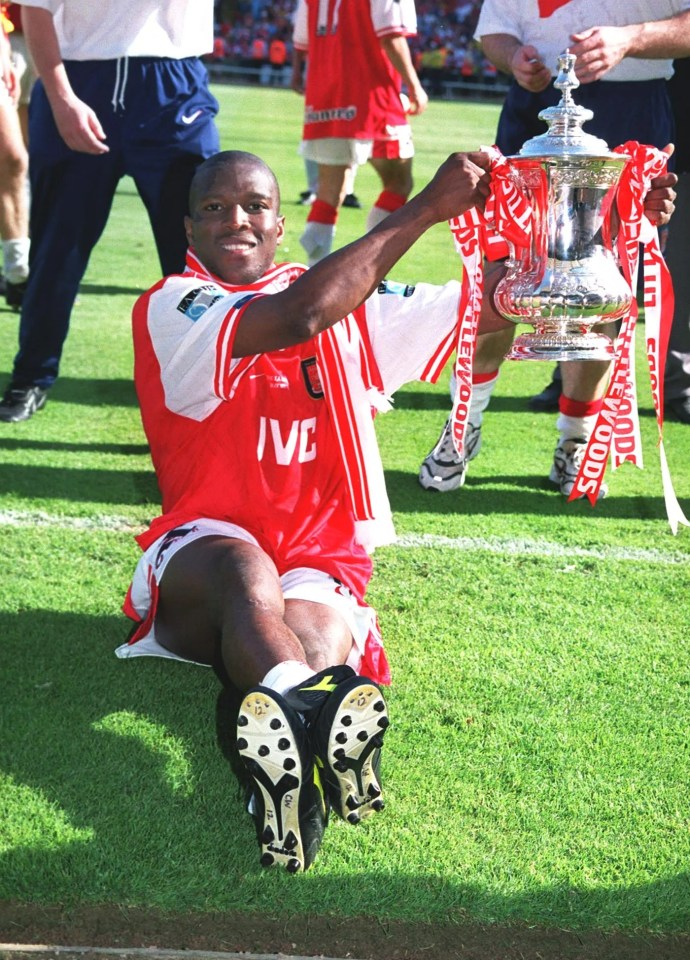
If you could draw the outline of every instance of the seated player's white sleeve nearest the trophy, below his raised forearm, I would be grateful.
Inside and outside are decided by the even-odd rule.
[[[429,283],[406,286],[384,280],[366,302],[372,350],[383,389],[395,393],[404,383],[419,380],[439,344],[458,322],[460,283],[442,287]]]

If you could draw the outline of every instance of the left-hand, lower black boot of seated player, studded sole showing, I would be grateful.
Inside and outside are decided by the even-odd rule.
[[[242,698],[237,749],[254,780],[261,865],[307,870],[321,846],[328,802],[304,723],[280,694],[255,687]]]

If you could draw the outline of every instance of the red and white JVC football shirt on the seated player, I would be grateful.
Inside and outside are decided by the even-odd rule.
[[[256,537],[280,574],[323,570],[360,599],[371,561],[356,541],[345,469],[317,364],[316,339],[232,358],[246,304],[279,292],[304,268],[283,264],[232,287],[190,252],[133,312],[134,378],[163,513],[138,537],[146,548],[207,517]],[[358,313],[386,393],[422,373],[457,322],[460,286],[383,283]]]

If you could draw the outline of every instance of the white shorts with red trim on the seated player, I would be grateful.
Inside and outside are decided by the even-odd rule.
[[[124,610],[128,616],[139,623],[139,628],[128,643],[122,644],[115,650],[118,657],[150,656],[167,657],[172,660],[185,659],[161,646],[156,639],[158,584],[167,565],[178,550],[201,537],[209,536],[231,537],[259,546],[258,541],[243,527],[222,520],[194,520],[159,537],[141,555],[134,571]],[[366,661],[368,677],[379,683],[390,682],[376,612],[372,607],[358,601],[354,594],[334,577],[311,567],[295,567],[293,570],[288,570],[280,578],[280,584],[286,600],[311,600],[314,603],[325,603],[337,610],[352,634],[352,650],[347,659],[349,666],[359,673]],[[376,672],[375,665],[379,661],[381,662],[379,676],[372,676],[372,672]],[[194,663],[195,661],[186,662]]]

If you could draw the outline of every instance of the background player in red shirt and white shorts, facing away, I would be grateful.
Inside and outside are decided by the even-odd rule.
[[[428,102],[407,45],[416,30],[414,0],[299,0],[293,41],[308,56],[301,151],[319,165],[316,200],[300,238],[310,264],[332,248],[348,168],[369,160],[381,178],[368,229],[412,192],[407,114],[421,113]],[[300,83],[293,75],[293,88]]]

